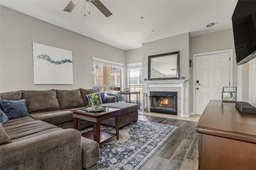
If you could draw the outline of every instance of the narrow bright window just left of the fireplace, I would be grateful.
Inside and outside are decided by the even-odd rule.
[[[140,92],[142,101],[142,63],[128,64],[129,87],[131,92]],[[131,100],[136,101],[136,95],[131,95]]]

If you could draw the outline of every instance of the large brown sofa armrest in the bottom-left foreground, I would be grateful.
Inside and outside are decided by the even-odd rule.
[[[63,129],[0,147],[1,169],[82,169],[81,135]]]

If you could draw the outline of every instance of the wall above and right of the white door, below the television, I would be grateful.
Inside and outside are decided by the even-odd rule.
[[[192,37],[191,45],[192,55],[233,49],[233,86],[237,86],[236,98],[256,106],[256,69],[252,68],[256,59],[236,66],[233,29]]]

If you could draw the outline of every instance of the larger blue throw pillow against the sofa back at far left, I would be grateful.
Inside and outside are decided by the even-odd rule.
[[[18,101],[0,100],[0,103],[4,113],[9,119],[16,119],[29,115],[25,99]]]

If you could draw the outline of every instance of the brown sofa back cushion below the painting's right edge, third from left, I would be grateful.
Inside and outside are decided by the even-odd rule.
[[[79,89],[77,90],[56,90],[60,109],[84,106],[84,100]]]

